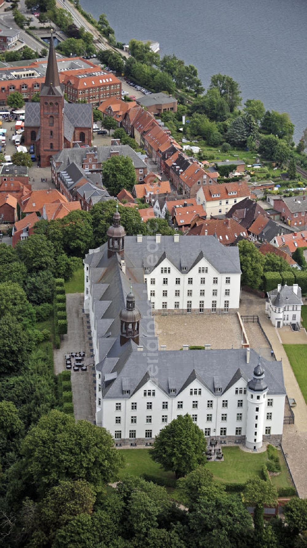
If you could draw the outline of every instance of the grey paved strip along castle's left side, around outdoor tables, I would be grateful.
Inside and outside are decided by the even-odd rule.
[[[66,309],[68,319],[68,333],[63,335],[61,348],[54,350],[54,372],[59,374],[65,370],[64,355],[69,352],[84,350],[86,357],[89,357],[88,341],[85,340],[83,321],[83,293],[69,293],[66,295]],[[94,422],[94,384],[92,382],[92,368],[88,367],[87,372],[72,371],[72,393],[74,418],[85,419]]]

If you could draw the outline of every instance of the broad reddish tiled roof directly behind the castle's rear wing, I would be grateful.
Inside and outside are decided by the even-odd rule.
[[[189,230],[188,236],[214,236],[217,235],[218,241],[224,246],[234,243],[238,236],[247,238],[247,231],[239,225],[234,219],[206,219],[205,221],[196,221]]]

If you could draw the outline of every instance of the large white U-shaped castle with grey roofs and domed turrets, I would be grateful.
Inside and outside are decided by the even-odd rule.
[[[212,236],[196,236],[197,243],[191,243],[193,238],[125,236],[117,212],[108,242],[86,255],[84,308],[94,349],[96,424],[106,427],[118,446],[150,445],[166,424],[189,413],[208,438],[252,449],[260,448],[263,439],[279,443],[286,396],[281,362],[243,348],[159,349],[152,302],[163,310],[165,299],[169,306],[164,310],[176,310],[176,288],[183,292],[176,298],[186,313],[204,311],[196,306],[199,294],[188,299],[189,286],[196,292],[203,286],[208,293],[217,287],[216,299],[201,295],[210,313],[224,312],[226,296],[229,311],[239,307],[238,250]],[[150,297],[153,286],[157,294]],[[165,286],[171,293],[160,295]],[[186,306],[186,299],[192,306]]]

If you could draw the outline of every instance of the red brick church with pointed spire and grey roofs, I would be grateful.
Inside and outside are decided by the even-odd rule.
[[[42,167],[50,165],[54,153],[72,148],[76,142],[92,143],[92,106],[68,104],[60,84],[53,39],[40,100],[25,105],[24,137],[33,145]]]

